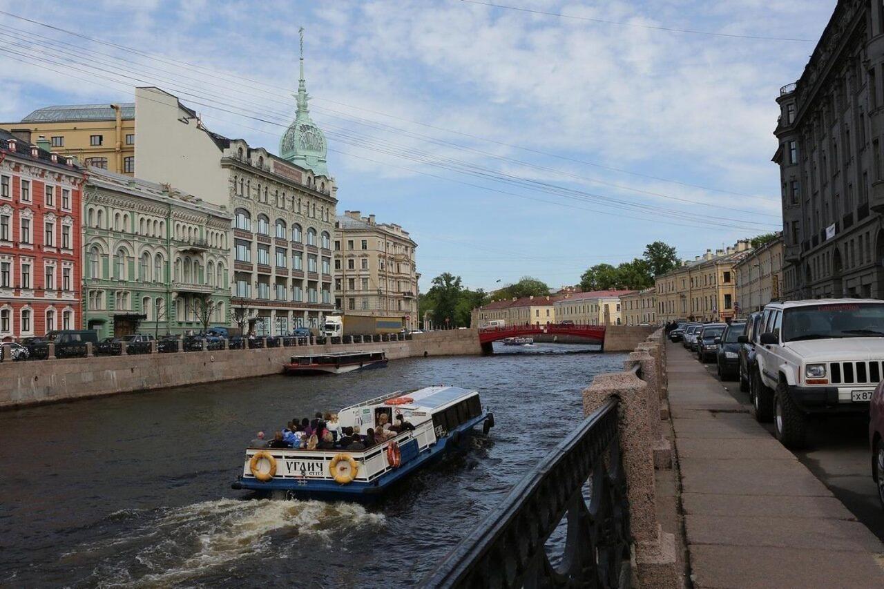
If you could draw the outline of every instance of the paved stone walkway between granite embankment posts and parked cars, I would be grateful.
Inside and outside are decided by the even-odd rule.
[[[695,587],[884,587],[884,545],[810,470],[681,344],[667,371]]]

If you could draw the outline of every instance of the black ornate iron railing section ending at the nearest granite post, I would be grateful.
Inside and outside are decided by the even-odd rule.
[[[560,536],[560,523],[567,524],[564,548],[551,559],[547,544],[553,532]],[[612,399],[562,440],[417,586],[624,587],[631,580],[629,544]]]

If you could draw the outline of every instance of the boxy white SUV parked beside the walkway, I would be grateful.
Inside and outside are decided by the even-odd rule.
[[[868,414],[884,379],[884,301],[772,302],[759,324],[751,395],[758,421],[804,445],[810,415]]]

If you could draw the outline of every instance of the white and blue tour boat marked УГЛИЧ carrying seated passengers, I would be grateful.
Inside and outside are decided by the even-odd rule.
[[[467,447],[476,425],[483,424],[485,434],[494,426],[494,415],[482,407],[477,391],[427,386],[341,409],[339,428],[358,425],[364,435],[398,415],[415,429],[364,450],[249,447],[232,488],[279,499],[370,501],[434,459]]]

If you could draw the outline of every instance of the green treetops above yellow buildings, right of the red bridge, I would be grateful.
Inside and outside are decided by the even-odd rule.
[[[679,264],[675,249],[663,241],[649,243],[644,256],[631,262],[623,262],[614,267],[611,264],[596,264],[580,277],[584,291],[607,290],[609,288],[641,290],[654,284],[654,276],[664,274]]]

